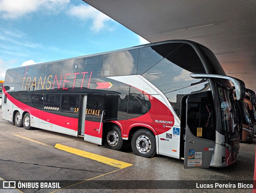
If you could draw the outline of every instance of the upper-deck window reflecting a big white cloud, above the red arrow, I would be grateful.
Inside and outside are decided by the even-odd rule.
[[[138,49],[105,54],[101,76],[121,76],[136,74]]]

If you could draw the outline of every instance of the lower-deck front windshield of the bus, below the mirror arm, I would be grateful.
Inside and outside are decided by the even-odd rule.
[[[222,130],[229,134],[238,132],[238,112],[236,111],[233,92],[218,86],[218,95],[220,99]]]

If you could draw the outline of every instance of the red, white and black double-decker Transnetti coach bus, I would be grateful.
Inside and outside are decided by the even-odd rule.
[[[230,81],[243,100],[244,82],[226,76],[208,48],[169,40],[9,69],[2,118],[184,159],[185,168],[225,167],[240,147]]]

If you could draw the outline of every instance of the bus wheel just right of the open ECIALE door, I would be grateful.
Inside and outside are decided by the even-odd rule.
[[[104,145],[109,149],[119,150],[122,147],[122,133],[118,126],[111,125],[106,129]]]

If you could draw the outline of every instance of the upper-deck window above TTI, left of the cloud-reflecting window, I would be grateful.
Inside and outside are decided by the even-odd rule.
[[[100,77],[102,70],[102,56],[79,58],[78,59],[78,71],[76,78],[82,79],[91,77]],[[82,74],[82,72],[88,72]]]

